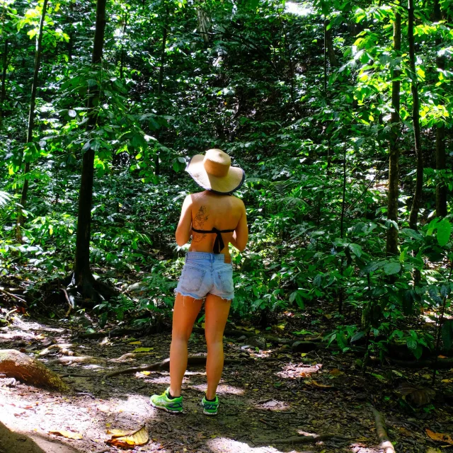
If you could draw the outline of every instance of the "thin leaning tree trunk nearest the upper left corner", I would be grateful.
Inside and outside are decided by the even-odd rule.
[[[42,2],[42,13],[40,20],[40,31],[38,33],[38,45],[35,52],[35,70],[33,71],[33,83],[31,86],[31,98],[30,98],[30,113],[28,114],[28,130],[27,130],[27,141],[26,143],[33,142],[33,126],[35,125],[35,105],[36,105],[36,91],[38,88],[38,75],[40,72],[40,61],[42,52],[42,30],[44,28],[45,13],[47,11],[47,1]],[[21,202],[18,209],[17,221],[16,221],[16,239],[18,242],[22,242],[21,226],[23,224],[22,210],[27,204],[28,195],[28,173],[30,172],[30,162],[25,162],[25,169],[23,172],[23,186],[21,194]]]

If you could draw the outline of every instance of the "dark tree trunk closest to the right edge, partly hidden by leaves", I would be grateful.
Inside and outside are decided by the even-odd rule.
[[[442,20],[439,0],[434,1],[434,18],[436,22]],[[442,38],[436,38],[436,47],[442,44]],[[445,57],[437,57],[437,69],[445,69]],[[443,104],[443,101],[440,101]],[[436,169],[445,170],[447,168],[447,159],[445,156],[445,125],[438,124],[436,127]],[[436,187],[436,214],[437,217],[447,215],[447,186],[444,183],[437,184]]]

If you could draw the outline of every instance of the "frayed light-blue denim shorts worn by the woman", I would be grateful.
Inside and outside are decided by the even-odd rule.
[[[194,299],[204,299],[209,293],[222,299],[233,299],[233,266],[224,259],[223,253],[186,253],[175,292]]]

